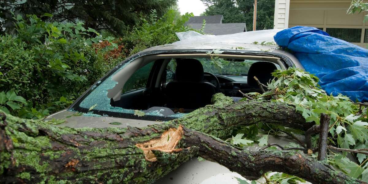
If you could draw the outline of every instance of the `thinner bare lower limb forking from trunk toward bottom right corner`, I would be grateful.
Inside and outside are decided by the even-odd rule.
[[[304,178],[312,183],[365,183],[334,171],[328,165],[307,157],[302,152],[246,151],[187,128],[184,128],[183,141],[186,146],[198,147],[198,154],[201,157],[218,162],[250,180],[256,180],[268,171],[278,171]]]

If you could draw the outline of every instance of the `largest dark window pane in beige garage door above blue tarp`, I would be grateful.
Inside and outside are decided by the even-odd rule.
[[[330,36],[345,40],[347,42],[360,43],[362,29],[353,28],[327,28]]]

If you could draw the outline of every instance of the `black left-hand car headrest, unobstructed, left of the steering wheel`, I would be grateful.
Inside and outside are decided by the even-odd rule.
[[[175,79],[183,82],[201,82],[203,80],[203,66],[201,62],[196,59],[177,61]]]

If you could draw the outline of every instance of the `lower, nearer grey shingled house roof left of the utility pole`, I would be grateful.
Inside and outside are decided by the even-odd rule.
[[[188,24],[193,29],[201,29],[202,24]],[[229,35],[245,31],[245,23],[206,24],[204,32],[210,35]]]

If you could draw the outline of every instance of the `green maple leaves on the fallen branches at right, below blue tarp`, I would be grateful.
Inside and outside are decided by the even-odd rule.
[[[316,124],[319,124],[321,113],[328,114],[331,117],[329,122],[329,145],[337,145],[339,148],[345,149],[367,148],[367,110],[359,108],[358,105],[351,102],[347,96],[331,96],[326,94],[325,91],[318,88],[319,79],[314,75],[308,74],[308,72],[297,68],[289,68],[283,71],[276,70],[272,74],[275,79],[267,85],[269,89],[268,92],[262,95],[259,93],[251,93],[249,95],[253,98],[263,100],[268,99],[272,95],[276,95],[276,98],[272,98],[272,100],[295,105],[296,111],[301,113],[306,121],[315,122]],[[248,99],[244,98],[243,100]],[[289,133],[303,134],[301,131],[287,129],[279,125],[258,125],[255,127],[261,127],[259,131],[273,132],[275,135],[278,135],[280,130]],[[244,128],[240,128],[235,134],[243,135],[243,130]],[[250,139],[255,138],[256,135],[253,134]],[[312,138],[314,145],[316,145],[317,140],[318,135]],[[266,145],[266,135],[263,135],[257,141],[259,145]],[[290,143],[290,146],[288,145],[286,147],[300,146],[295,143]],[[368,159],[366,155],[361,153],[354,154],[360,162],[360,164],[357,164],[346,157],[347,153],[338,154],[330,152],[329,154],[328,163],[333,164],[351,177],[367,181],[368,164],[365,163],[367,163]],[[316,157],[317,155],[313,153],[312,156]],[[283,179],[280,180],[280,178]],[[277,179],[280,180],[280,183],[285,183],[286,181],[291,181],[291,178],[294,177],[277,175],[277,177],[271,177],[270,179],[275,181]]]

